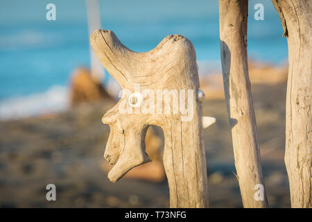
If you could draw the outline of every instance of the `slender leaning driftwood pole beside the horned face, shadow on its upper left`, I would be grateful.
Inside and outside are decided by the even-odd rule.
[[[247,17],[247,0],[219,0],[225,101],[243,206],[268,207],[248,76]],[[256,198],[262,186],[262,198]]]

